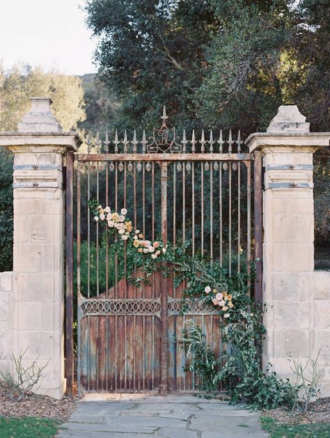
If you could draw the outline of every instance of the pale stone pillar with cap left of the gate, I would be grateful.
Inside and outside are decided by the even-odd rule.
[[[63,132],[51,100],[31,99],[18,132],[0,134],[0,146],[14,154],[13,354],[38,357],[45,369],[39,393],[61,398],[65,391],[63,350],[63,166],[67,150],[81,141]]]

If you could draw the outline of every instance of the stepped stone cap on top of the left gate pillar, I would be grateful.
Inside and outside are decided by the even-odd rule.
[[[31,97],[31,109],[18,123],[18,132],[62,132],[50,109],[52,99],[49,97]]]

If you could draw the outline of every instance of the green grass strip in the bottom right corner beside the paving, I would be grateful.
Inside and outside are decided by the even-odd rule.
[[[278,423],[269,416],[262,416],[260,422],[272,438],[330,438],[330,423]]]

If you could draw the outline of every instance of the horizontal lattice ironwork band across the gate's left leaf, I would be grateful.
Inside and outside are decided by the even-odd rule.
[[[86,299],[81,303],[83,315],[157,315],[159,299]]]

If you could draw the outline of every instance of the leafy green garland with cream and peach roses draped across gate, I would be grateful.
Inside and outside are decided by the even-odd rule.
[[[297,403],[297,386],[278,378],[269,367],[266,373],[260,368],[260,354],[265,327],[262,325],[262,308],[249,296],[251,273],[237,272],[228,275],[226,269],[189,254],[190,242],[180,246],[164,244],[161,240],[145,240],[132,226],[127,210],[111,212],[97,201],[89,203],[96,222],[106,226],[102,242],[120,254],[125,253],[125,276],[135,286],[141,281],[150,283],[152,274],[162,270],[172,275],[175,287],[184,284],[182,309],[187,298],[198,299],[217,308],[221,316],[223,341],[230,351],[216,357],[207,346],[201,329],[188,320],[183,341],[188,346],[189,368],[201,377],[199,389],[216,392],[221,383],[233,402],[244,399],[257,408],[274,408],[278,405],[293,407]],[[144,272],[134,276],[136,269]]]

